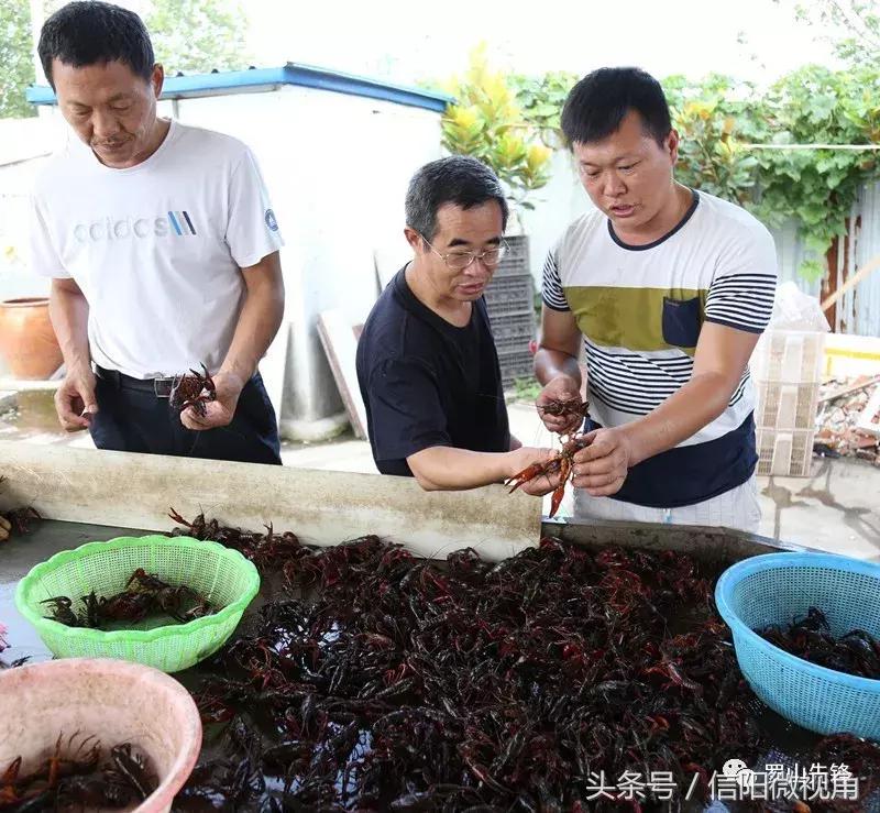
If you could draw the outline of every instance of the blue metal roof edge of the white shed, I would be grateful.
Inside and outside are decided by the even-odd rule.
[[[249,90],[274,90],[282,85],[298,85],[349,96],[364,96],[369,99],[392,101],[396,105],[424,108],[443,112],[452,97],[420,88],[352,76],[338,70],[328,70],[312,65],[287,63],[279,68],[251,68],[249,70],[224,70],[212,74],[190,76],[169,76],[165,78],[162,99],[191,99],[199,96],[223,96]],[[28,88],[28,101],[33,105],[54,105],[52,88],[38,85]]]

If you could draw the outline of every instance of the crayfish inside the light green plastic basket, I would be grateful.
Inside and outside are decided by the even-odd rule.
[[[74,603],[66,595],[45,598],[41,604],[50,605],[52,615],[47,615],[47,618],[68,627],[90,629],[108,626],[118,629],[120,623],[135,624],[151,615],[170,616],[186,624],[217,612],[210,602],[191,587],[185,584],[173,587],[143,568],[132,573],[122,592],[106,598],[99,597],[92,590],[80,602],[82,609],[79,613],[74,612]]]

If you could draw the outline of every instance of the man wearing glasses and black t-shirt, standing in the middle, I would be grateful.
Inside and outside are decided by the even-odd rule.
[[[510,435],[483,300],[506,249],[507,213],[498,179],[475,158],[435,161],[409,183],[404,234],[414,256],[373,307],[358,345],[383,474],[415,476],[429,491],[474,488],[551,454]]]

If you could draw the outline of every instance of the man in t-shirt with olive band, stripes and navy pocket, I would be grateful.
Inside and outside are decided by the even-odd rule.
[[[562,129],[596,210],[547,259],[538,404],[581,388],[575,518],[757,529],[748,359],[773,304],[767,229],[678,184],[678,133],[659,83],[602,68],[571,91]],[[571,422],[546,416],[553,431]]]

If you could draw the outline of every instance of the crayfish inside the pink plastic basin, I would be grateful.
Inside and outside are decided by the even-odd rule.
[[[95,737],[58,735],[53,755],[30,773],[22,758],[0,773],[0,811],[82,811],[129,807],[158,785],[145,755],[131,743],[113,746],[102,758]]]

